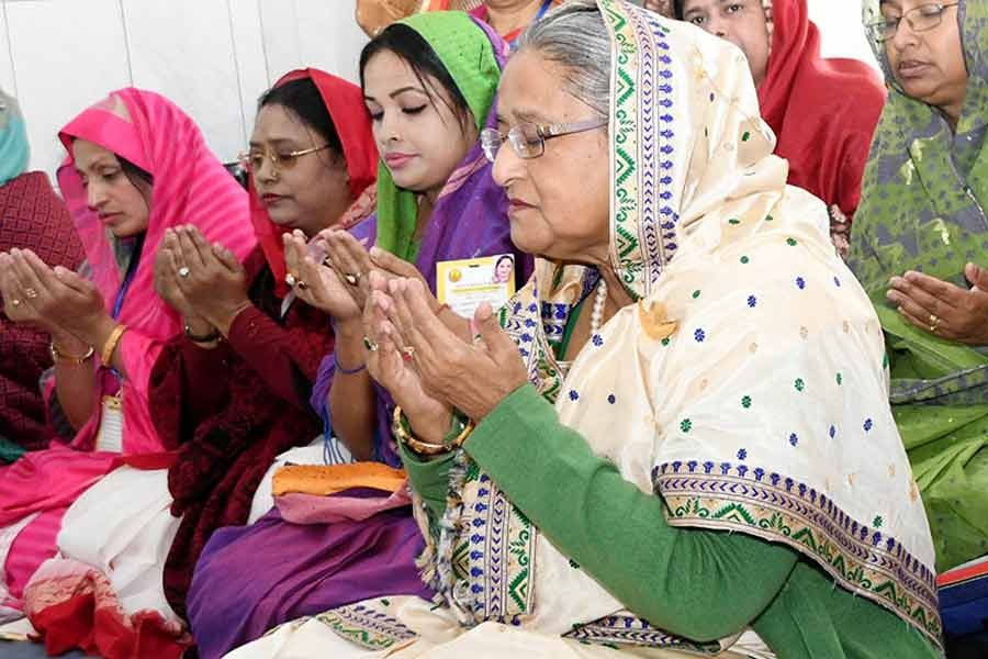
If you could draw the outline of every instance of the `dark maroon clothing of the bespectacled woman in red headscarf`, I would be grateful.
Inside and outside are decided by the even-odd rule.
[[[178,450],[168,473],[172,514],[183,515],[165,563],[165,594],[186,617],[186,594],[202,548],[220,527],[247,522],[274,457],[322,431],[308,406],[322,357],[333,349],[329,319],[297,302],[280,319],[263,252],[247,263],[256,305],[234,321],[229,340],[202,350],[171,340],[151,373],[155,426]]]

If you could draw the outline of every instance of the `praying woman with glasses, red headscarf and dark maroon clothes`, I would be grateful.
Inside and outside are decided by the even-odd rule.
[[[159,357],[150,400],[158,432],[179,450],[168,483],[182,522],[165,592],[183,617],[212,533],[246,523],[276,456],[322,429],[308,396],[333,333],[322,311],[293,303],[281,235],[361,220],[373,210],[377,159],[360,89],[294,71],[261,97],[246,158],[260,247],[240,266],[194,228],[165,238],[156,286],[186,332]]]

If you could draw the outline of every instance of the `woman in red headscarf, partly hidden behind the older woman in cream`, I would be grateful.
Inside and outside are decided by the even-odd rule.
[[[820,56],[806,0],[675,0],[675,11],[744,52],[775,153],[789,160],[789,183],[822,199],[844,224],[841,214],[850,219],[857,209],[885,104],[878,74],[856,59]],[[849,227],[832,228],[846,235]]]

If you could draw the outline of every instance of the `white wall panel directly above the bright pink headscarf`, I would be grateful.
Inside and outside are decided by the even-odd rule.
[[[244,143],[226,0],[123,0],[134,86],[175,101],[223,160]]]

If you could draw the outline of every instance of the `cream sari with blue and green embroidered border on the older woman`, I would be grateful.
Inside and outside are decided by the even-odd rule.
[[[830,245],[823,203],[786,186],[738,48],[621,0],[598,5],[613,38],[611,263],[639,301],[566,371],[552,345],[598,275],[538,263],[501,312],[532,384],[663,499],[670,524],[785,544],[939,641],[933,546],[882,328]],[[465,453],[438,526],[423,563],[442,606],[366,602],[321,622],[367,648],[413,643],[408,656],[444,643],[481,656],[495,632],[572,644],[571,656],[749,651],[624,611]]]

